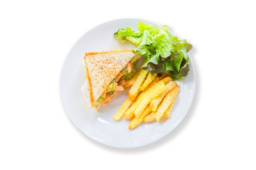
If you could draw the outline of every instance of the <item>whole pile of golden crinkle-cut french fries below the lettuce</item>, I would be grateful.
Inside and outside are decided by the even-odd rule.
[[[170,117],[170,113],[179,92],[179,87],[168,74],[157,77],[141,70],[134,78],[125,83],[129,97],[115,113],[114,119],[131,120],[129,129],[134,129],[141,122],[159,121],[162,117]]]

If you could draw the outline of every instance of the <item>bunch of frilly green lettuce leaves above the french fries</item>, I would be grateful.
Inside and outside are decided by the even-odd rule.
[[[114,38],[131,41],[138,46],[133,53],[143,55],[141,68],[150,73],[167,72],[175,80],[188,75],[188,52],[192,45],[186,39],[169,34],[166,25],[152,26],[139,22],[138,31],[129,27],[118,29]]]

